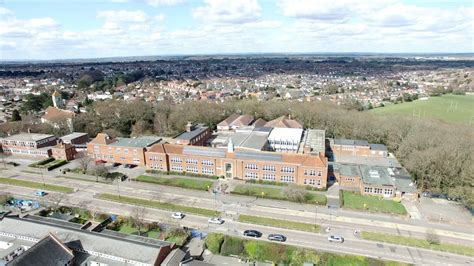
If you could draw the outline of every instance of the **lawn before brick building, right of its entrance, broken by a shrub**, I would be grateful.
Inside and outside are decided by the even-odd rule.
[[[262,187],[253,185],[238,185],[231,192],[232,194],[247,195],[267,199],[287,200],[292,201],[285,195],[285,188]],[[262,194],[263,192],[263,194]],[[312,203],[319,205],[326,205],[326,196],[322,194],[311,193],[304,191],[303,203]]]

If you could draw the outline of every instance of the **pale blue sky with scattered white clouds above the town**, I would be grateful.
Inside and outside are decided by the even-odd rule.
[[[0,60],[472,53],[472,0],[0,0]]]

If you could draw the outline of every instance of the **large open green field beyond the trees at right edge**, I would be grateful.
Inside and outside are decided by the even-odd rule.
[[[474,124],[474,95],[448,94],[400,104],[391,104],[370,110],[380,115],[427,117],[449,123]]]

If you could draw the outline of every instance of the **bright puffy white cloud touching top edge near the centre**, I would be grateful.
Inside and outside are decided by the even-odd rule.
[[[193,16],[207,22],[242,24],[255,22],[262,16],[257,0],[205,0],[205,5],[194,9]]]

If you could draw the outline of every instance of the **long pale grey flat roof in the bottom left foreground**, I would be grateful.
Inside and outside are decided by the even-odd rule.
[[[112,236],[90,232],[67,225],[72,223],[57,224],[56,220],[48,218],[39,217],[35,220],[30,218],[30,215],[23,219],[5,217],[0,221],[0,232],[36,239],[41,239],[49,232],[54,232],[54,235],[71,249],[75,247],[74,245],[80,244],[84,250],[147,264],[154,264],[160,248],[170,245],[168,242],[157,240],[152,243],[144,242],[119,233]]]

